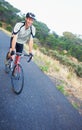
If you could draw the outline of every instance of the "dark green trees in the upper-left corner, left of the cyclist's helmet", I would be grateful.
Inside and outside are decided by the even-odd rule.
[[[20,16],[18,16],[19,12],[20,10],[14,8],[5,0],[0,0],[0,21],[6,22],[13,26],[16,21],[21,19]]]

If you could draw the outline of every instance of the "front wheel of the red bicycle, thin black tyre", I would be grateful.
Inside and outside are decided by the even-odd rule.
[[[24,73],[20,64],[14,66],[11,75],[11,84],[12,89],[16,94],[20,94],[22,92],[24,86]]]

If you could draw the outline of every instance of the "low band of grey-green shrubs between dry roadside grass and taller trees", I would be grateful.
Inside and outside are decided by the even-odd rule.
[[[46,48],[40,48],[40,51],[44,53],[45,55],[52,56],[54,59],[57,59],[62,63],[63,65],[66,65],[71,68],[71,70],[75,71],[77,76],[82,77],[82,64],[81,63],[74,63],[70,58],[68,58],[66,55],[60,55],[58,51],[56,50],[50,50]]]

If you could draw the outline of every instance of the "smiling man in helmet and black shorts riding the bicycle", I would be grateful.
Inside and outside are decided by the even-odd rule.
[[[18,22],[14,26],[12,36],[10,39],[10,49],[7,53],[6,60],[13,56],[16,52],[22,53],[24,44],[29,45],[29,55],[32,55],[33,38],[35,36],[36,29],[33,26],[35,15],[28,12],[24,22]]]

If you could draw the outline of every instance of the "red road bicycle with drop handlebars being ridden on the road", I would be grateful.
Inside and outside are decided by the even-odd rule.
[[[11,75],[12,89],[15,94],[20,94],[24,87],[24,72],[23,67],[20,63],[21,58],[28,56],[27,62],[30,62],[32,56],[25,53],[15,53],[15,58],[9,58],[8,63],[5,64],[5,72]]]

